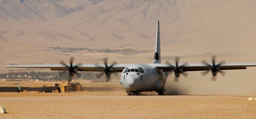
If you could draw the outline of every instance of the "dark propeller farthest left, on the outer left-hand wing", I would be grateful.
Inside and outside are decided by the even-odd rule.
[[[73,66],[73,61],[74,61],[74,57],[70,57],[70,65],[68,66],[63,60],[60,61],[60,64],[64,65],[65,67],[67,67],[66,71],[68,71],[69,77],[68,80],[71,81],[72,77],[76,74],[77,78],[81,78],[81,74],[78,73],[78,67],[81,64],[78,65],[74,65]],[[66,72],[64,71],[64,72]]]

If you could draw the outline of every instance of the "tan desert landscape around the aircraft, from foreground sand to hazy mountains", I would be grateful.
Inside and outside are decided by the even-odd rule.
[[[0,0],[0,73],[48,72],[6,68],[8,64],[151,63],[160,20],[162,63],[256,63],[255,0]],[[64,52],[61,48],[136,49],[148,52]],[[153,51],[152,51],[153,50]],[[71,93],[0,93],[7,113],[0,119],[35,118],[249,118],[256,117],[256,67],[226,75],[189,72],[166,96],[126,96],[119,78],[81,81],[84,91]],[[42,86],[2,82],[0,86]],[[51,85],[51,84],[44,84]]]

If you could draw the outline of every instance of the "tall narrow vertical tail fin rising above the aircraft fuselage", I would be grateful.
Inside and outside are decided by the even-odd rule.
[[[161,48],[160,48],[160,23],[157,21],[157,37],[156,37],[156,46],[153,63],[161,63]]]

